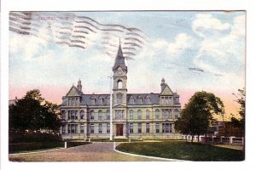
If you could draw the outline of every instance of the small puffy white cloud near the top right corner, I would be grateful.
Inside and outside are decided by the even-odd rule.
[[[222,23],[212,14],[196,14],[192,29],[201,37],[212,37],[230,31],[230,24]]]

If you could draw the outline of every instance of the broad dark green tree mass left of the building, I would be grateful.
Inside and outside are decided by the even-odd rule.
[[[9,105],[9,129],[59,130],[57,105],[45,101],[38,89],[28,91],[15,105]]]

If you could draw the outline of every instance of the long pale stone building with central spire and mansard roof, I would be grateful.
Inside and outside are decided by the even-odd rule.
[[[113,65],[113,138],[172,138],[179,95],[162,78],[160,94],[128,94],[128,68],[119,45]],[[129,78],[132,81],[132,77]],[[63,139],[103,139],[110,133],[110,94],[84,94],[79,80],[62,97]]]

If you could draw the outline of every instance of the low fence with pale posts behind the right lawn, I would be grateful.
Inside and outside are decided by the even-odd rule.
[[[182,135],[183,139],[187,139],[189,141],[192,141],[192,136],[191,135]],[[201,142],[205,143],[207,140],[207,143],[212,143],[212,144],[234,144],[234,145],[243,145],[244,144],[244,139],[243,138],[236,138],[235,136],[230,136],[230,137],[224,137],[224,136],[207,136],[207,138],[203,135],[199,136],[194,136],[193,141],[195,142]]]

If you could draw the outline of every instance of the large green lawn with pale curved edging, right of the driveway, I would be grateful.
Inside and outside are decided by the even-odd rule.
[[[144,156],[157,156],[188,161],[243,161],[242,150],[232,150],[206,144],[166,140],[160,143],[125,143],[116,150]]]

